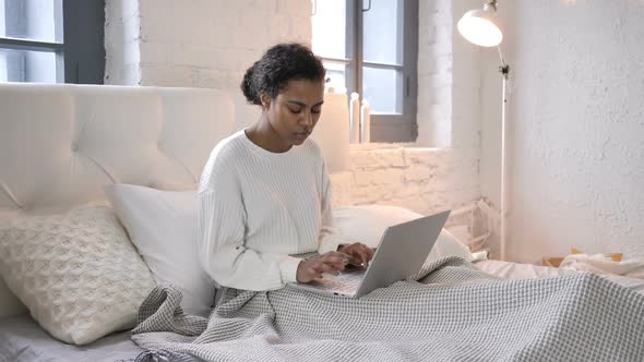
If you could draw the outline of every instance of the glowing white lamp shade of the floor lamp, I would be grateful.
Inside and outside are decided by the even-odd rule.
[[[470,10],[458,21],[458,33],[481,47],[496,47],[503,40],[503,33],[492,21],[489,10]]]

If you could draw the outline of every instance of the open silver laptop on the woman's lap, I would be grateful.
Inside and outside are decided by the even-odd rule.
[[[324,274],[294,288],[347,298],[360,298],[374,289],[417,274],[433,248],[450,210],[386,228],[367,269],[347,266],[338,276]]]

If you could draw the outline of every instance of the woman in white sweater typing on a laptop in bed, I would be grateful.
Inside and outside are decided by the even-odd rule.
[[[331,185],[309,138],[320,119],[325,71],[310,49],[279,44],[241,83],[262,107],[252,126],[213,149],[199,188],[203,267],[220,287],[274,290],[365,267],[373,251],[331,228]],[[318,252],[311,258],[295,254]]]

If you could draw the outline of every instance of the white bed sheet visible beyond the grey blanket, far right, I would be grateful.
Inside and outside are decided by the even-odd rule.
[[[549,266],[502,261],[480,261],[474,263],[474,266],[479,270],[503,279],[540,279],[580,273]],[[618,275],[605,275],[604,277],[620,286],[644,294],[644,279],[625,278]]]

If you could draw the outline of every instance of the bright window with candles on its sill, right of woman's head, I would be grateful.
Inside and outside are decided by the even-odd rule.
[[[416,140],[418,1],[312,0],[313,51],[369,101],[372,142]]]

